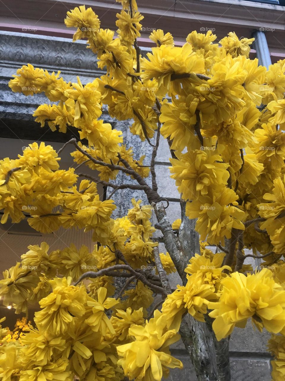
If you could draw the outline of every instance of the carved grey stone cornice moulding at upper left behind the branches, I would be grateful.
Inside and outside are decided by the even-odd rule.
[[[96,55],[83,41],[47,37],[17,32],[0,31],[0,75],[11,78],[16,70],[27,63],[43,69],[60,70],[65,80],[88,82],[102,75]]]

